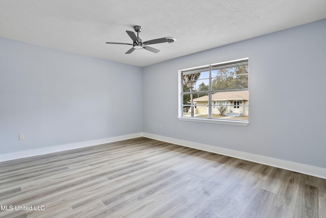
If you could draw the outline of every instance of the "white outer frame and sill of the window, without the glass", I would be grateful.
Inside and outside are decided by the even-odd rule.
[[[230,120],[230,119],[224,120],[224,119],[212,119],[212,118],[184,117],[184,116],[182,116],[182,112],[181,112],[181,110],[182,110],[181,90],[182,90],[182,86],[183,86],[182,79],[181,79],[182,71],[193,70],[193,69],[197,69],[197,68],[207,68],[207,67],[209,67],[211,70],[212,65],[223,65],[223,64],[229,64],[232,62],[238,62],[238,61],[244,61],[244,60],[249,61],[249,58],[241,58],[241,59],[236,59],[236,60],[232,60],[232,61],[225,61],[225,62],[221,62],[221,63],[215,63],[215,64],[209,64],[209,65],[203,65],[203,66],[199,66],[199,67],[192,67],[192,68],[178,70],[178,119],[183,120],[183,121],[188,121],[188,122],[225,124],[225,125],[234,125],[234,126],[248,126],[249,120]],[[211,80],[210,80],[210,83],[211,83]],[[210,104],[209,105],[210,108],[212,108],[214,106],[214,105],[212,105],[212,101],[211,101],[211,92],[212,91],[209,91],[209,100],[208,100],[208,103]]]

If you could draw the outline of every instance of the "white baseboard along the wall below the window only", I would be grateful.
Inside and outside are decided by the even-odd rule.
[[[202,151],[212,152],[216,154],[222,154],[230,157],[239,158],[242,160],[248,160],[256,163],[261,163],[269,166],[275,166],[282,169],[287,169],[289,171],[302,173],[310,176],[319,177],[322,179],[326,179],[326,168],[320,168],[317,166],[306,165],[302,163],[295,163],[287,160],[281,160],[271,157],[265,157],[256,154],[250,154],[246,152],[240,152],[230,149],[219,148],[215,146],[209,146],[207,144],[201,144],[192,141],[180,140],[176,138],[170,138],[160,135],[154,135],[150,133],[143,133],[143,136],[146,138],[156,139],[159,141],[165,141],[173,144],[178,144],[180,146],[194,148]]]

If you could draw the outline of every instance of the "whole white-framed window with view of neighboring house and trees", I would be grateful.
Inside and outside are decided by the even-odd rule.
[[[178,118],[247,126],[248,63],[244,58],[179,70]]]

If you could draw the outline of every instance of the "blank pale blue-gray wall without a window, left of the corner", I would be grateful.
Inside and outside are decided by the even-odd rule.
[[[141,67],[0,38],[0,154],[141,133],[142,83]]]

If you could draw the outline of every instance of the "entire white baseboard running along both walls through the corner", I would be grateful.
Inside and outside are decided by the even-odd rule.
[[[311,166],[311,165],[302,164],[302,163],[295,163],[295,162],[291,162],[291,161],[287,161],[287,160],[265,157],[265,156],[261,156],[261,155],[255,155],[255,154],[250,154],[250,153],[240,152],[240,151],[235,151],[235,150],[230,150],[230,149],[224,149],[224,148],[219,148],[219,147],[215,147],[215,146],[209,146],[207,144],[201,144],[201,143],[192,142],[192,141],[170,138],[170,137],[166,137],[166,136],[154,135],[154,134],[150,134],[150,133],[135,133],[135,134],[121,135],[121,136],[102,138],[102,139],[96,139],[96,140],[90,140],[90,141],[61,144],[59,146],[52,146],[52,147],[40,148],[40,149],[34,149],[34,150],[28,150],[28,151],[20,151],[20,152],[8,153],[8,154],[1,154],[0,162],[24,158],[24,157],[33,157],[33,156],[42,155],[42,154],[50,154],[50,153],[67,151],[67,150],[72,150],[72,149],[96,146],[98,144],[105,144],[105,143],[110,143],[110,142],[115,142],[115,141],[137,138],[137,137],[141,137],[141,136],[146,137],[146,138],[160,140],[160,141],[166,141],[166,142],[173,143],[173,144],[178,144],[179,146],[194,148],[194,149],[212,152],[212,153],[216,153],[216,154],[222,154],[222,155],[226,155],[226,156],[230,156],[230,157],[239,158],[242,160],[248,160],[248,161],[261,163],[261,164],[265,164],[265,165],[269,165],[269,166],[275,166],[278,168],[287,169],[289,171],[294,171],[297,173],[303,173],[306,175],[326,179],[326,168],[320,168],[317,166]]]

